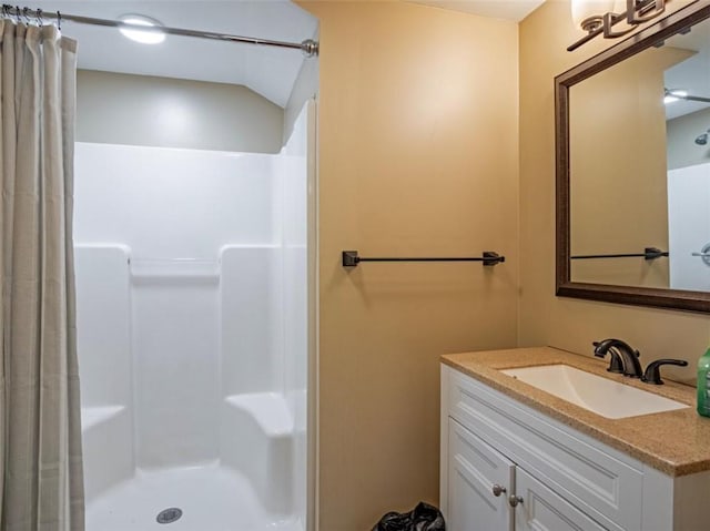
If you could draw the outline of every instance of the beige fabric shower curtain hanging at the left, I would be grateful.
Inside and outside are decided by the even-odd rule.
[[[72,251],[75,42],[0,20],[0,530],[83,530]]]

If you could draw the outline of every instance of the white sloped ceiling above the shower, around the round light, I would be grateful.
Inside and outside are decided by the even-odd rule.
[[[34,1],[32,8],[115,20],[140,13],[166,27],[302,42],[317,20],[286,0],[81,0]],[[285,106],[304,55],[300,50],[168,35],[156,45],[139,44],[113,28],[62,22],[79,42],[79,68],[248,86]]]

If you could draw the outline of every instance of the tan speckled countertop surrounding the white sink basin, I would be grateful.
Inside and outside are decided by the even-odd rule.
[[[696,412],[696,388],[665,379],[650,386],[607,372],[608,360],[551,347],[514,348],[442,356],[459,370],[565,425],[587,433],[669,476],[710,470],[710,418]],[[687,404],[689,408],[608,419],[519,381],[498,369],[565,364]],[[662,369],[661,369],[662,375]]]

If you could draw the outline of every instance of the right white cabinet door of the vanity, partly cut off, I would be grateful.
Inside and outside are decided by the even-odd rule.
[[[515,531],[599,531],[600,525],[523,469],[516,469]]]

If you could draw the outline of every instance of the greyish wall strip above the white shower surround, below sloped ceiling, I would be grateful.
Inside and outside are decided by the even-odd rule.
[[[283,110],[245,86],[80,70],[77,141],[278,153]]]

